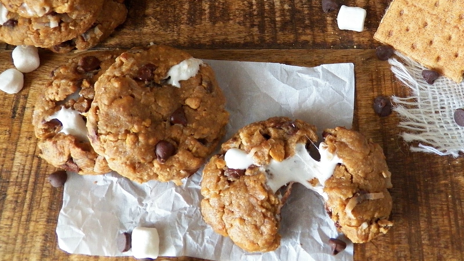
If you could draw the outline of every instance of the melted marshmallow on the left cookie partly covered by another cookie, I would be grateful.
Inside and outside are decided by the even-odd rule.
[[[60,131],[67,135],[72,135],[80,141],[88,141],[87,138],[87,128],[85,127],[85,122],[79,112],[64,106],[61,107],[61,110],[55,112],[49,120],[58,119],[63,125],[63,129]]]

